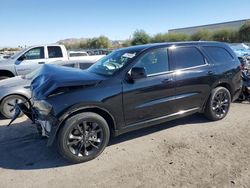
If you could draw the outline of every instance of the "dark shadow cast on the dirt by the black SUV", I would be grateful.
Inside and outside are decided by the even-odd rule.
[[[205,122],[203,116],[192,115],[111,138],[109,146],[177,125],[202,125]],[[14,123],[11,127],[0,126],[0,168],[33,170],[72,165],[60,156],[55,146],[47,147],[46,143],[47,140],[39,137],[35,125],[32,126],[29,120]]]

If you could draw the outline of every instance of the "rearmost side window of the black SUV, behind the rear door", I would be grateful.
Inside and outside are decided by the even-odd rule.
[[[233,56],[224,48],[206,46],[204,49],[215,62],[228,62],[233,60]]]

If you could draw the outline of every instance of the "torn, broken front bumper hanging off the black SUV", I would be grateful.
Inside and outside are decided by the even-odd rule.
[[[21,112],[23,112],[33,122],[33,124],[37,126],[37,130],[42,137],[48,138],[47,145],[52,145],[57,132],[57,118],[51,114],[41,114],[36,108],[27,108],[24,103],[19,103],[15,106],[15,114],[8,126],[10,126],[17,119],[17,117],[19,117]]]

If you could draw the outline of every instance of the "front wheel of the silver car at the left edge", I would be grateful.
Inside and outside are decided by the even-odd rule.
[[[2,100],[1,105],[0,105],[0,112],[5,118],[10,119],[15,113],[14,111],[15,104],[22,103],[25,101],[26,101],[26,98],[20,95],[9,95]],[[27,107],[29,107],[28,103],[27,103]],[[21,117],[22,115],[23,113],[21,113],[19,117]]]

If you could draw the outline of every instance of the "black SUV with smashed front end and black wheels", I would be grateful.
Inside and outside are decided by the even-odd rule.
[[[114,51],[86,71],[44,65],[31,88],[33,106],[20,109],[77,163],[97,157],[111,133],[196,112],[224,118],[241,90],[240,62],[224,43],[149,44]]]

